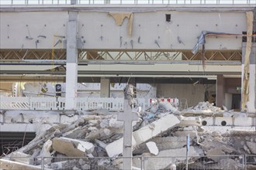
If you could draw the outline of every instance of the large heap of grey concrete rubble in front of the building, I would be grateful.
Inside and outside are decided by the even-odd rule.
[[[219,111],[209,103],[193,109]],[[117,121],[118,113],[106,112],[79,112],[78,120],[71,124],[52,125],[28,145],[0,159],[1,168],[121,169],[123,122]],[[200,117],[182,116],[175,106],[161,101],[147,110],[138,108],[138,114],[140,121],[133,122],[133,169],[141,168],[137,157],[142,156],[145,169],[168,169],[173,164],[184,168],[188,134],[189,167],[241,169],[242,159],[228,155],[256,154],[254,132],[207,131]]]

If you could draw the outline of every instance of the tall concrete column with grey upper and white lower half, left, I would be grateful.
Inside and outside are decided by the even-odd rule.
[[[66,64],[66,102],[65,110],[77,108],[78,48],[77,48],[78,12],[69,12],[67,22],[67,64]]]

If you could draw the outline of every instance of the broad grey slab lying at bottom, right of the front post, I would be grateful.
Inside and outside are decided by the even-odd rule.
[[[203,154],[202,149],[191,146],[189,148],[189,157],[199,157]],[[186,148],[169,149],[159,151],[157,156],[152,156],[150,153],[144,153],[144,168],[145,169],[165,169],[177,161],[185,161]],[[140,167],[141,161],[133,158],[133,166]]]

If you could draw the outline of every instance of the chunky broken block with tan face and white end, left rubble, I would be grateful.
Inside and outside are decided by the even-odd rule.
[[[53,148],[55,151],[70,157],[83,157],[94,151],[92,143],[71,138],[54,138]]]

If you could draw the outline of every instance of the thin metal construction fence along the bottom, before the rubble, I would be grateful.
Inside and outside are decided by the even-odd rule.
[[[30,164],[31,168],[50,169],[123,169],[123,161],[132,159],[132,169],[137,170],[185,170],[186,159],[188,158],[188,169],[256,169],[256,155],[210,155],[210,156],[189,156],[189,157],[159,157],[140,156],[132,158],[116,157],[10,157],[10,161],[0,158],[0,165],[3,169],[20,169],[21,165]],[[14,163],[15,162],[15,163]],[[16,165],[17,162],[17,165]],[[76,168],[74,168],[76,167]],[[26,168],[26,166],[23,166]]]

